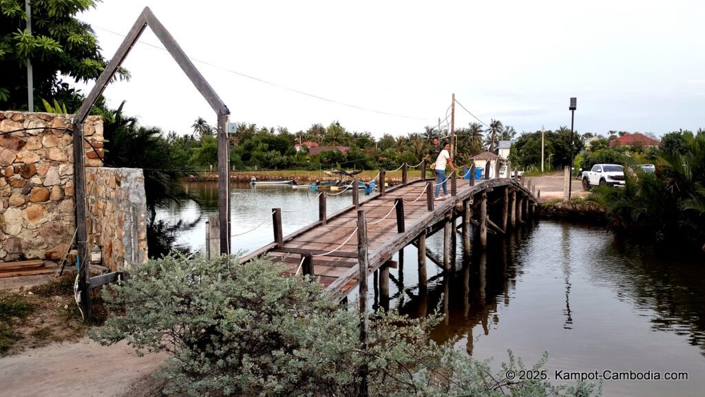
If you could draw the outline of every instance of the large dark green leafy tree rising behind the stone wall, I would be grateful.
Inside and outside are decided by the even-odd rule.
[[[32,1],[32,33],[27,30],[25,2],[0,1],[0,109],[27,109],[27,59],[32,61],[35,106],[57,99],[68,111],[78,110],[80,93],[68,77],[87,83],[106,66],[90,25],[76,19],[96,5],[94,0]],[[129,78],[124,68],[118,78]]]

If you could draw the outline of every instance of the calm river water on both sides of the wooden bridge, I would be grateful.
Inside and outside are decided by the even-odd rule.
[[[158,219],[192,222],[177,244],[202,250],[207,214],[217,212],[217,186],[190,183],[188,188],[202,207],[185,202],[159,210]],[[232,233],[245,234],[233,237],[233,251],[252,251],[273,240],[274,207],[285,211],[285,236],[315,221],[317,194],[290,186],[235,185]],[[351,197],[349,191],[328,197],[329,214],[350,205]],[[428,238],[430,250],[442,252],[441,234]],[[446,320],[433,338],[452,341],[474,358],[494,358],[494,367],[508,359],[508,349],[527,364],[547,351],[548,379],[558,384],[569,372],[627,372],[662,380],[606,380],[603,394],[705,394],[701,259],[625,243],[603,228],[557,221],[541,221],[507,238],[491,237],[485,252],[474,246],[463,252],[458,238],[454,271],[445,276],[427,261],[426,293],[418,288],[417,250],[408,246],[394,258],[399,267],[390,271],[389,305],[412,317],[441,307]],[[376,291],[370,291],[369,300],[373,310],[379,308]],[[687,380],[663,380],[672,372],[685,373],[678,376]]]

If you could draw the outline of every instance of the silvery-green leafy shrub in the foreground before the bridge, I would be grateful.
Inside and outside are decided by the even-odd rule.
[[[367,368],[370,396],[591,396],[593,387],[510,381],[510,360],[494,372],[448,345],[429,341],[440,317],[396,312],[370,320],[367,347],[355,311],[340,310],[307,277],[235,257],[171,255],[133,268],[129,283],[105,291],[113,315],[92,338],[127,339],[170,355],[167,393],[188,396],[357,396]],[[539,369],[545,358],[538,365]]]

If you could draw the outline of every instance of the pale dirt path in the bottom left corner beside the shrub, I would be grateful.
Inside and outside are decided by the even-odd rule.
[[[127,343],[100,346],[89,338],[0,358],[4,397],[155,396],[152,374],[166,355],[137,357]],[[144,387],[135,387],[137,385]]]

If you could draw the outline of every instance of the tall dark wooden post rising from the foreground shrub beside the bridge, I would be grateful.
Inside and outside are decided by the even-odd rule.
[[[322,195],[321,195],[322,196]],[[367,318],[367,269],[369,267],[369,257],[367,257],[367,221],[365,221],[364,209],[357,210],[357,264],[360,269],[358,279],[360,281],[360,349],[367,351],[367,330],[369,323]],[[367,365],[361,365],[358,375],[360,384],[358,385],[358,396],[367,396]]]

